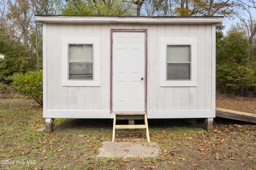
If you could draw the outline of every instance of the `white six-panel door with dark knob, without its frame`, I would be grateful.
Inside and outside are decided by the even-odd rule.
[[[114,32],[113,111],[145,111],[145,33]]]

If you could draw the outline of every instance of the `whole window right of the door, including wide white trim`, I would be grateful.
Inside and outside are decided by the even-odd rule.
[[[197,86],[197,39],[160,39],[160,86]]]

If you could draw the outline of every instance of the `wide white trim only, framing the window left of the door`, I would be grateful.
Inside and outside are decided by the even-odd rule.
[[[93,74],[92,80],[69,80],[68,48],[69,44],[92,44]],[[62,38],[62,86],[100,86],[100,38]]]

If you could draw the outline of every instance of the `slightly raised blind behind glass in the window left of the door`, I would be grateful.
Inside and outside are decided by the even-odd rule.
[[[69,79],[92,80],[93,46],[92,44],[70,44],[68,53]]]

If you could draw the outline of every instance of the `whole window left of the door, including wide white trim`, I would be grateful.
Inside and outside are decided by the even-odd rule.
[[[62,39],[62,86],[100,86],[100,38]]]

